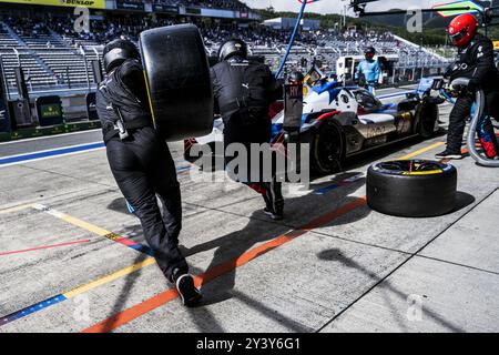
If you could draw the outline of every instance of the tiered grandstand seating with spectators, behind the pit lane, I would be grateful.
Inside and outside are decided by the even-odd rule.
[[[179,0],[159,0],[159,2],[177,3]],[[189,6],[228,7],[230,3],[234,6],[237,1],[182,0],[181,2]],[[245,7],[242,3],[241,6]],[[152,21],[151,18],[140,14],[120,17],[110,13],[102,20],[91,21],[91,33],[77,33],[72,28],[71,14],[53,17],[44,13],[29,19],[1,14],[1,19],[0,54],[6,68],[7,83],[12,90],[16,90],[13,68],[19,63],[24,69],[28,87],[33,90],[94,85],[90,62],[102,55],[103,43],[119,36],[136,40],[139,33],[147,28],[173,24],[179,20],[192,21],[198,26],[208,54],[215,55],[225,39],[240,37],[249,43],[252,54],[264,55],[273,69],[277,68],[291,37],[288,31],[273,30],[254,22],[247,27],[238,27],[231,21],[206,22],[198,18],[160,17]],[[307,63],[318,59],[327,71],[334,71],[340,55],[361,54],[368,45],[375,45],[385,54],[399,54],[400,68],[441,65],[438,57],[428,51],[420,51],[417,45],[397,41],[390,33],[326,31],[299,33],[289,55],[289,65],[299,67],[303,59],[306,59]]]

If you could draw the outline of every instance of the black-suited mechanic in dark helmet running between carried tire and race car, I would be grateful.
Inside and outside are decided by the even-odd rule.
[[[240,174],[241,171],[230,173],[263,195],[265,214],[274,220],[282,220],[284,199],[282,183],[276,180],[275,171],[272,172],[272,181],[265,182],[261,166],[249,163],[252,143],[271,142],[272,121],[268,109],[278,93],[275,78],[267,65],[247,60],[247,45],[240,39],[223,43],[218,50],[218,59],[220,63],[212,68],[212,81],[215,110],[220,111],[224,121],[224,148],[227,151],[231,144],[240,143],[246,149],[248,160],[247,176]],[[235,156],[226,154],[225,163],[228,164],[234,159]],[[259,158],[257,161],[261,161]],[[252,169],[258,169],[259,181],[249,181]]]

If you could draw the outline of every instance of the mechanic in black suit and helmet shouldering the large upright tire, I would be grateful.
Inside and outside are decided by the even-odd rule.
[[[152,123],[140,58],[129,40],[118,39],[105,45],[108,77],[99,85],[96,110],[114,179],[140,219],[157,265],[175,284],[184,305],[191,306],[201,294],[179,250],[182,202],[176,169],[169,146]],[[163,204],[163,216],[156,195]]]

